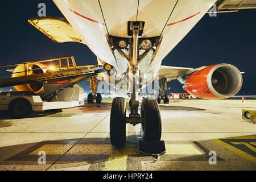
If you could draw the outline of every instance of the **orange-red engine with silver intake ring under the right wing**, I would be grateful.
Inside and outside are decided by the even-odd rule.
[[[191,74],[183,89],[195,97],[225,99],[236,95],[242,87],[241,72],[230,64],[211,65]]]

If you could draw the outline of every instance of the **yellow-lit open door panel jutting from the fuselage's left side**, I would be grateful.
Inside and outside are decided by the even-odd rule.
[[[83,43],[76,30],[65,18],[60,17],[36,17],[28,22],[56,43],[78,42]]]

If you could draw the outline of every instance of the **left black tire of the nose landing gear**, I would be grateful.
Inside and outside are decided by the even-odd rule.
[[[116,148],[126,143],[126,99],[114,98],[110,114],[110,141]]]

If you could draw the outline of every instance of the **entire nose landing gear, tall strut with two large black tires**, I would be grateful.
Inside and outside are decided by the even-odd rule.
[[[110,140],[113,146],[123,147],[126,143],[126,123],[131,125],[141,124],[141,135],[143,140],[157,141],[161,139],[162,124],[158,101],[155,98],[143,98],[141,114],[139,108],[139,92],[142,89],[141,73],[138,68],[138,36],[143,30],[142,22],[132,22],[130,31],[133,32],[133,42],[130,43],[129,69],[127,70],[127,80],[129,81],[129,106],[130,114],[126,117],[126,99],[114,98],[110,115]]]

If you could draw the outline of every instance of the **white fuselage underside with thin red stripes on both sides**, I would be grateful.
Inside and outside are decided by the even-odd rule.
[[[131,38],[127,22],[145,22],[141,38],[162,36],[150,64],[151,51],[139,62],[141,73],[158,73],[164,57],[188,34],[216,0],[53,0],[83,42],[117,73],[127,70],[128,61],[113,54],[108,36]],[[155,74],[155,76],[156,76]],[[152,79],[154,80],[154,78]]]

